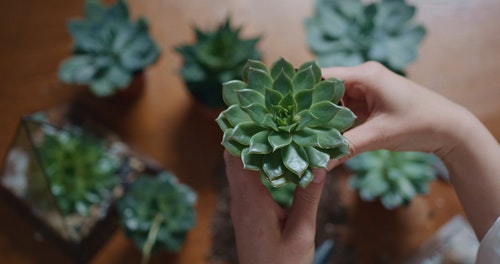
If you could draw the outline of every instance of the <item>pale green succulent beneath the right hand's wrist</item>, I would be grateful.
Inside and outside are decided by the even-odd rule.
[[[345,162],[353,172],[349,184],[363,200],[380,198],[387,209],[408,205],[417,194],[428,192],[435,179],[436,156],[423,152],[377,150],[359,154]]]

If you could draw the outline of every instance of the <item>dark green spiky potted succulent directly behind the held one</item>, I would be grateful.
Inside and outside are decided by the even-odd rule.
[[[215,30],[195,28],[196,42],[176,47],[184,60],[180,71],[193,97],[211,108],[225,108],[222,83],[241,78],[248,59],[259,60],[259,38],[243,39],[230,19]]]

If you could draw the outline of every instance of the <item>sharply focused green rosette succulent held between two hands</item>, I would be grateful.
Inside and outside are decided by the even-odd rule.
[[[312,168],[348,153],[341,133],[355,115],[338,104],[343,94],[343,81],[323,80],[314,61],[295,69],[281,58],[268,69],[249,60],[242,81],[223,85],[228,108],[217,118],[222,145],[273,186],[305,187]]]

